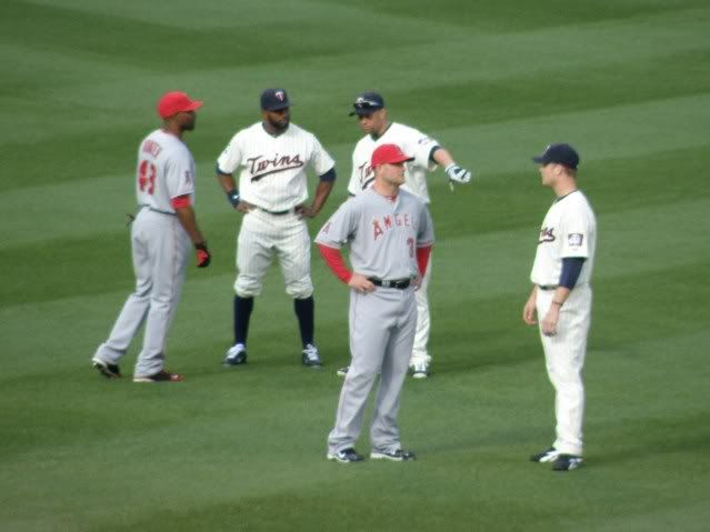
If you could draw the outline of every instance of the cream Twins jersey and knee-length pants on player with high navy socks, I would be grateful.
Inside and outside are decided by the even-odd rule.
[[[240,298],[261,292],[261,280],[276,252],[287,293],[296,299],[313,293],[308,227],[293,208],[308,199],[306,168],[322,175],[334,161],[316,135],[290,123],[279,135],[261,122],[239,131],[217,161],[219,171],[239,170],[239,194],[254,210],[244,214],[237,241]]]

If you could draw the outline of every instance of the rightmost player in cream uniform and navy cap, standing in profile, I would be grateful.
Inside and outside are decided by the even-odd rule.
[[[582,463],[584,387],[582,368],[591,314],[590,278],[597,248],[597,220],[587,197],[577,188],[579,155],[569,144],[550,144],[540,157],[542,184],[557,195],[544,217],[530,280],[532,291],[522,319],[540,319],[540,338],[550,382],[554,387],[557,440],[534,454],[533,462],[552,462],[556,471]]]

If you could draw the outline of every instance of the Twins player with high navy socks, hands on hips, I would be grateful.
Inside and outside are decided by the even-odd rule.
[[[306,168],[320,178],[316,198],[308,199]],[[239,170],[239,189],[233,173]],[[237,241],[234,282],[234,344],[226,365],[247,362],[247,334],[253,299],[273,254],[279,259],[286,292],[301,333],[301,361],[321,365],[313,341],[313,284],[310,277],[310,237],[306,218],[321,210],[336,181],[332,158],[312,134],[290,122],[289,97],[283,89],[261,93],[261,121],[239,131],[217,161],[217,177],[232,207],[243,219]]]

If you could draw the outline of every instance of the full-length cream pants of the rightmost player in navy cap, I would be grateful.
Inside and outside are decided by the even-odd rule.
[[[560,311],[554,337],[542,334],[542,318],[547,314],[554,290],[538,290],[536,307],[540,338],[544,349],[548,377],[554,388],[557,440],[554,448],[564,454],[582,454],[582,421],[584,384],[582,369],[587,354],[587,337],[591,318],[591,288],[574,287]]]

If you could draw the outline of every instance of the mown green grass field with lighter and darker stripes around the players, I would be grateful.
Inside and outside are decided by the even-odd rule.
[[[3,1],[0,530],[707,530],[709,34],[707,0]],[[324,460],[348,294],[319,258],[323,370],[300,365],[277,268],[249,365],[220,365],[239,217],[212,170],[269,86],[338,161],[311,234],[346,198],[362,90],[477,173],[453,194],[430,179],[436,373],[400,415],[414,463]],[[89,360],[132,288],[134,152],[174,89],[206,101],[188,143],[214,255],[169,338],[187,380],[106,381]],[[568,474],[527,461],[553,439],[520,319],[551,201],[530,155],[551,141],[579,148],[599,221],[587,465]]]

